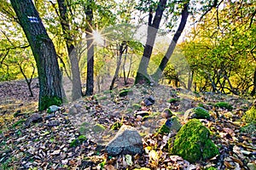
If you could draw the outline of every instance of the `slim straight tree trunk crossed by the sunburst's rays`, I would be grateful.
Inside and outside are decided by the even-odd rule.
[[[93,13],[91,5],[93,0],[89,0],[88,4],[85,5],[84,10],[86,14],[86,20],[88,25],[86,26],[86,42],[87,42],[87,77],[86,77],[86,91],[85,95],[89,96],[93,94],[94,88],[94,44],[93,44],[93,36],[92,36],[92,19]]]

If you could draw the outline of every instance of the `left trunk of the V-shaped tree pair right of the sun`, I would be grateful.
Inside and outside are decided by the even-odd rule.
[[[145,83],[150,81],[150,78],[148,77],[148,71],[147,71],[148,63],[154,47],[155,37],[160,26],[160,20],[162,18],[165,8],[166,8],[166,0],[160,0],[158,7],[156,8],[154,20],[152,24],[151,24],[152,10],[150,9],[149,11],[147,42],[143,51],[143,58],[141,59],[139,68],[137,70],[135,84]]]

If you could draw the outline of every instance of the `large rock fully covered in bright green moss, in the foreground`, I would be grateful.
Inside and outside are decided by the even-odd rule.
[[[192,119],[178,131],[173,147],[170,144],[169,150],[172,155],[182,156],[191,163],[210,159],[218,155],[218,149],[209,136],[209,129],[199,120]]]

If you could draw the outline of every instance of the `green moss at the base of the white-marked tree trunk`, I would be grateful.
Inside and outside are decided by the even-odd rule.
[[[62,99],[56,96],[44,96],[41,99],[39,99],[39,105],[38,110],[44,111],[47,109],[50,105],[61,105]]]

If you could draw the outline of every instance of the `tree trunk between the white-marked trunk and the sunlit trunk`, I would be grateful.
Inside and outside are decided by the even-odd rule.
[[[79,59],[76,49],[73,45],[73,37],[70,34],[69,21],[67,19],[67,5],[65,0],[58,0],[61,28],[66,41],[68,57],[71,64],[72,71],[72,100],[76,100],[82,97],[81,78],[79,70]]]

